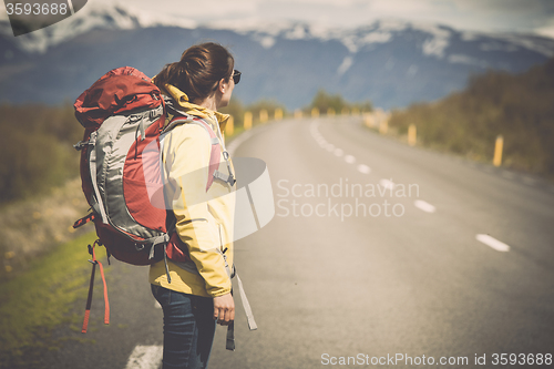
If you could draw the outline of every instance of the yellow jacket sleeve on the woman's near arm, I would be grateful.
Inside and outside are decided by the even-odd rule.
[[[175,185],[173,212],[176,232],[188,247],[212,297],[230,293],[230,280],[220,253],[219,224],[209,212],[206,193],[212,153],[209,135],[196,124],[175,127],[165,165]]]

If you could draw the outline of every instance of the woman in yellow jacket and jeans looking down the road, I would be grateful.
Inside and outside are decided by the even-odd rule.
[[[171,98],[170,120],[174,114],[197,116],[216,133],[222,172],[232,172],[220,134],[228,115],[217,111],[229,103],[239,76],[224,47],[203,43],[185,50],[181,61],[165,65],[153,80]],[[164,170],[177,191],[175,229],[196,270],[172,260],[167,273],[163,260],[151,267],[152,291],[164,312],[163,368],[206,368],[216,322],[227,326],[235,319],[226,267],[233,266],[235,204],[232,195],[225,196],[235,187],[234,181],[214,181],[206,192],[211,154],[209,134],[199,124],[177,125],[164,137]]]

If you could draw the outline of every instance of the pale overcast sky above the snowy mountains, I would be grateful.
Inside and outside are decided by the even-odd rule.
[[[193,18],[198,23],[300,20],[352,28],[397,18],[460,30],[554,38],[554,0],[89,0],[86,7],[114,2],[156,17]],[[4,9],[2,13],[6,18]]]

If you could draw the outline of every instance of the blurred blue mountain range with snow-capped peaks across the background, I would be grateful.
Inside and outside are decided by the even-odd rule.
[[[0,101],[72,101],[112,68],[150,75],[188,45],[227,45],[246,103],[275,99],[296,109],[318,89],[390,109],[442,98],[486,70],[517,73],[554,55],[554,40],[462,32],[439,24],[382,20],[357,29],[298,22],[202,24],[155,19],[122,7],[91,8],[13,38],[0,23]]]

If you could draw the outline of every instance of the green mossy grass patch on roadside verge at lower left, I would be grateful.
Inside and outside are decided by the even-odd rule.
[[[89,233],[62,244],[0,285],[0,368],[33,360],[30,353],[37,349],[57,349],[66,338],[54,339],[53,329],[80,325],[82,315],[72,311],[73,303],[86,296],[91,270],[86,245],[94,239],[96,235]]]

